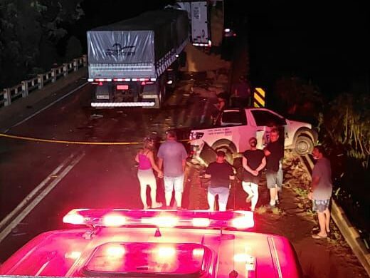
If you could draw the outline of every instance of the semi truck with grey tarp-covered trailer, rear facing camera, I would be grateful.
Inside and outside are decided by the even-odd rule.
[[[87,32],[93,108],[160,108],[189,40],[186,11],[147,11]]]

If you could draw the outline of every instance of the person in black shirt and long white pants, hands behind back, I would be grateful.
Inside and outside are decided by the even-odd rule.
[[[245,202],[250,202],[250,210],[254,212],[258,202],[258,182],[260,182],[261,170],[265,168],[266,158],[263,150],[257,149],[257,139],[249,139],[250,149],[243,153],[243,181],[242,187],[248,193]]]

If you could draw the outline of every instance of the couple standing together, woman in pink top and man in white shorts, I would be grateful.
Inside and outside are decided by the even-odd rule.
[[[182,193],[184,192],[184,171],[187,153],[184,145],[177,142],[174,130],[166,132],[166,141],[159,147],[157,158],[158,164],[154,159],[153,138],[145,138],[144,146],[136,155],[135,160],[138,165],[137,177],[140,183],[140,198],[144,210],[148,208],[162,207],[161,202],[157,202],[157,180],[154,176],[155,170],[159,178],[164,180],[164,197],[166,207],[169,207],[172,193],[176,207],[181,208]],[[147,186],[150,187],[150,197],[152,205],[149,207],[147,202]]]

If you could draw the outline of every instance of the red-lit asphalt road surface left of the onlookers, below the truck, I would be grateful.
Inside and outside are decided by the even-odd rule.
[[[138,143],[149,134],[162,138],[168,128],[197,125],[205,113],[206,98],[189,94],[194,80],[184,79],[161,110],[93,110],[87,105],[93,87],[84,86],[7,133],[30,140],[0,138],[0,261],[38,233],[65,227],[63,215],[72,208],[141,208]]]

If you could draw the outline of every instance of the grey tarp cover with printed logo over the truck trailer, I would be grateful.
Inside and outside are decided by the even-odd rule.
[[[187,37],[186,12],[149,11],[88,31],[88,61],[89,64],[154,64],[181,46]]]

